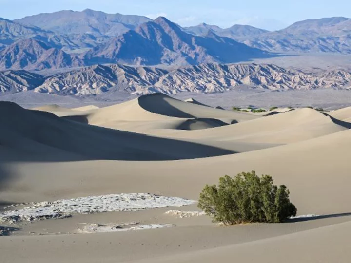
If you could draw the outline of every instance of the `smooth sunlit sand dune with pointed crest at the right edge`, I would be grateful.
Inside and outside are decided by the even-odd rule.
[[[215,129],[169,133],[178,138],[207,138],[256,143],[292,143],[348,130],[351,124],[313,109],[298,109]]]

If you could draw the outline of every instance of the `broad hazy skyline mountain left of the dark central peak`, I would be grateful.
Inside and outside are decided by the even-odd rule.
[[[14,20],[23,25],[37,26],[60,35],[92,34],[118,36],[136,26],[151,21],[142,16],[106,14],[91,9],[39,14]]]

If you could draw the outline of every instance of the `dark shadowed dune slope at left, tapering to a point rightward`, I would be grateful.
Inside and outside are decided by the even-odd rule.
[[[232,154],[214,146],[72,122],[0,102],[0,144],[32,153],[69,152],[88,159],[177,160]]]

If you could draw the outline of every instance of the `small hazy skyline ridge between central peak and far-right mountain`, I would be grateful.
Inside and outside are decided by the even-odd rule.
[[[185,27],[184,30],[190,34],[205,36],[208,31],[215,32],[216,35],[221,37],[232,38],[236,41],[246,40],[247,38],[257,37],[261,34],[269,32],[268,30],[256,28],[249,25],[234,25],[229,28],[220,28],[215,25],[208,25],[205,23],[197,26]]]

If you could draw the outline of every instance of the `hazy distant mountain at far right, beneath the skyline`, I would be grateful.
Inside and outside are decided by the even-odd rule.
[[[351,54],[351,19],[335,17],[300,21],[243,42],[267,51]]]

